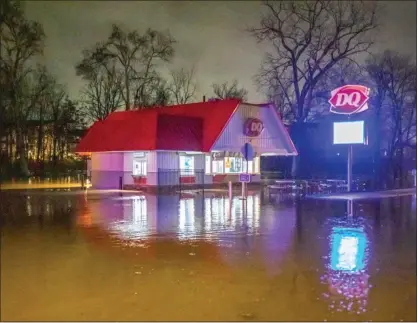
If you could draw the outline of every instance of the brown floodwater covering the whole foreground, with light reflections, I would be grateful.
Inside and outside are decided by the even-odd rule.
[[[1,319],[416,321],[416,197],[0,192]]]

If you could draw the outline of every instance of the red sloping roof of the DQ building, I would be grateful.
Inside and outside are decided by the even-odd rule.
[[[209,152],[238,104],[238,100],[220,100],[114,112],[93,124],[76,152]]]

